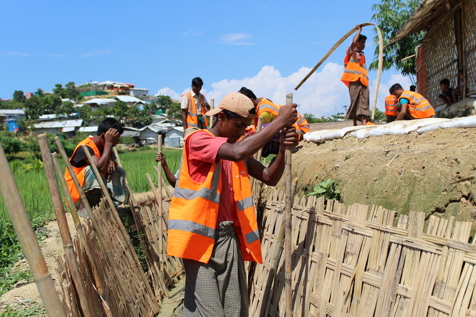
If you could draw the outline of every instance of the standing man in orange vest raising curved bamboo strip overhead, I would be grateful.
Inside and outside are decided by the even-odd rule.
[[[368,75],[363,52],[367,37],[360,34],[362,28],[358,24],[356,29],[357,34],[347,49],[347,54],[344,58],[346,69],[340,80],[349,88],[350,105],[347,109],[347,119],[352,119],[354,125],[357,125],[357,120],[362,121],[362,125],[367,125],[370,115]]]

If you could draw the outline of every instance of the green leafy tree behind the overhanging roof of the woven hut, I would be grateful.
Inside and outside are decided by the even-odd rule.
[[[384,45],[387,45],[395,37],[398,30],[403,27],[420,3],[421,1],[419,0],[382,0],[380,3],[372,6],[372,11],[375,12],[372,16],[372,21],[375,21],[375,24],[382,31]],[[373,40],[373,43],[376,45],[375,58],[369,65],[369,70],[378,69],[379,48],[377,30],[374,33],[376,34]],[[421,31],[402,38],[397,43],[385,48],[383,70],[395,67],[401,71],[402,75],[416,75],[415,58],[408,58],[403,61],[402,59],[415,54],[415,48],[421,42],[424,35],[425,32]]]

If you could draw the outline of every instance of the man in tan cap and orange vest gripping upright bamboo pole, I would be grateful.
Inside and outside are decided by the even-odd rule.
[[[169,211],[168,255],[183,258],[182,316],[248,317],[245,261],[263,263],[249,176],[276,185],[286,145],[297,145],[296,104],[282,106],[266,129],[241,141],[256,117],[251,100],[232,92],[207,112],[210,130],[185,140]],[[269,168],[253,159],[279,130],[281,150]]]

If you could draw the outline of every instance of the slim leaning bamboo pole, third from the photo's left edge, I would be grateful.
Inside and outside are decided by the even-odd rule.
[[[112,267],[112,270],[114,272],[114,276],[118,280],[119,287],[121,288],[121,293],[124,295],[124,297],[120,297],[122,303],[124,306],[129,307],[130,312],[133,314],[134,317],[139,317],[139,311],[137,310],[137,307],[135,307],[134,303],[132,302],[132,298],[129,293],[128,286],[126,284],[126,280],[124,279],[123,273],[119,269],[119,266],[117,265],[116,261],[114,260],[114,256],[111,253],[109,243],[106,242],[106,238],[104,237],[103,232],[100,230],[99,223],[96,219],[96,216],[94,212],[91,209],[91,206],[89,205],[88,199],[86,198],[86,195],[83,192],[83,189],[81,188],[81,185],[79,184],[78,177],[73,171],[73,167],[71,166],[71,163],[68,160],[68,156],[66,155],[66,152],[64,151],[63,145],[60,142],[60,138],[58,136],[55,136],[54,138],[55,144],[58,147],[58,150],[60,151],[61,158],[63,159],[64,163],[66,164],[66,168],[68,169],[69,174],[71,175],[71,178],[73,180],[74,185],[76,186],[76,189],[79,192],[79,198],[81,199],[81,202],[83,203],[84,207],[86,208],[86,211],[89,214],[89,218],[94,226],[96,228],[95,234],[97,234],[100,243],[100,247],[103,250],[104,254],[106,255],[106,258],[109,261],[109,265]],[[87,151],[89,153],[89,151]],[[106,243],[105,243],[106,242]]]

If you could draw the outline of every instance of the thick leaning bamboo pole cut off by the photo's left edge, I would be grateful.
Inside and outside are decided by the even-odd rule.
[[[50,317],[66,317],[1,143],[0,170],[2,171],[0,192],[3,202],[20,240],[46,312]]]

